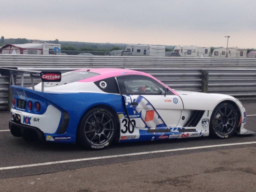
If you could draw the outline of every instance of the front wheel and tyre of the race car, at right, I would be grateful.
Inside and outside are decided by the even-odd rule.
[[[210,135],[225,139],[234,134],[238,126],[238,114],[234,106],[222,102],[216,106],[210,119]]]

